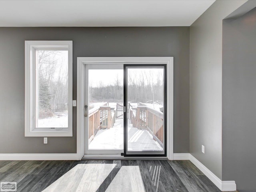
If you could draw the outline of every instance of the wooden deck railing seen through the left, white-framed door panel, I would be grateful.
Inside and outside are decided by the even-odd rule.
[[[110,118],[109,118],[110,117]],[[114,108],[108,106],[108,102],[89,110],[89,142],[94,138],[101,128],[114,126],[116,112]]]

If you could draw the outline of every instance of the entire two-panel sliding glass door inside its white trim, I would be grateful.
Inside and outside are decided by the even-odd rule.
[[[166,65],[85,68],[85,154],[166,156]]]

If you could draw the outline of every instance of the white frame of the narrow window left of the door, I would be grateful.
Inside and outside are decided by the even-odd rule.
[[[72,128],[72,41],[25,41],[25,137],[68,137]],[[68,128],[36,128],[36,50],[68,50]]]

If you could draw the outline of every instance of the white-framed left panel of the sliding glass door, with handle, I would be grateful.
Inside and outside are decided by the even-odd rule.
[[[86,154],[124,150],[123,66],[86,65]]]

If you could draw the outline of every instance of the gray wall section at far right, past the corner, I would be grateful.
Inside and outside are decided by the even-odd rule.
[[[223,21],[222,178],[256,191],[256,8]]]

